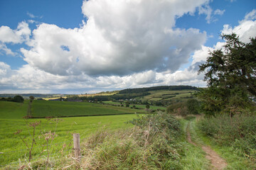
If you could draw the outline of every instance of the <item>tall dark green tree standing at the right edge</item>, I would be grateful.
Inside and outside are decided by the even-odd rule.
[[[205,72],[208,85],[198,93],[208,114],[248,108],[252,106],[250,96],[256,95],[256,39],[244,43],[235,33],[221,37],[225,40],[223,49],[210,52],[198,70]]]

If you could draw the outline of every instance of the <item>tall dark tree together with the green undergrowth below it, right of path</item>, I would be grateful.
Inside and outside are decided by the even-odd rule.
[[[199,72],[205,73],[208,88],[197,94],[206,118],[200,130],[220,146],[256,161],[256,39],[240,42],[234,33],[222,35],[226,43],[210,52]]]

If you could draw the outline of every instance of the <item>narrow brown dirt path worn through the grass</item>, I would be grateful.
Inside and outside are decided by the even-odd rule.
[[[190,126],[191,126],[191,122],[188,123],[188,126],[186,128],[188,142],[198,147],[198,145],[196,145],[196,143],[194,143],[191,140],[191,133],[189,132]],[[213,151],[213,149],[210,149],[209,146],[201,146],[201,148],[203,149],[204,152],[206,152],[206,159],[210,160],[210,164],[213,166],[213,169],[217,169],[217,170],[225,169],[225,166],[227,166],[227,163],[215,151]]]

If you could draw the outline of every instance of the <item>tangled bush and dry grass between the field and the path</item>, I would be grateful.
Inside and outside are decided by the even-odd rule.
[[[178,120],[158,113],[130,123],[134,128],[101,130],[82,143],[80,169],[181,169]]]

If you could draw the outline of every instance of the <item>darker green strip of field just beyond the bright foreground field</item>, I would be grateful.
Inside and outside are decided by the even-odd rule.
[[[136,109],[103,105],[100,103],[65,101],[33,101],[32,103],[32,115],[35,117],[110,115],[136,112],[138,112]]]

